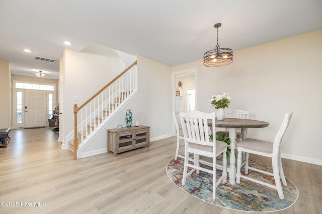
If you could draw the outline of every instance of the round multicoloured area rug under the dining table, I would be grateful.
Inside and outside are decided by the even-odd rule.
[[[249,165],[257,168],[265,168],[272,171],[271,167],[261,163],[249,160]],[[216,199],[212,198],[212,175],[200,171],[187,177],[186,185],[181,185],[184,160],[178,157],[178,160],[171,160],[167,165],[167,174],[169,178],[182,190],[208,203],[241,211],[269,212],[286,209],[292,206],[298,197],[296,186],[288,179],[287,186],[282,185],[285,199],[279,198],[277,190],[243,179],[240,184],[221,183],[216,190]],[[190,168],[188,168],[188,171]],[[242,172],[243,173],[243,172]],[[249,169],[249,173],[262,180],[274,182],[274,177],[264,175]],[[221,170],[217,169],[217,179],[221,175]]]

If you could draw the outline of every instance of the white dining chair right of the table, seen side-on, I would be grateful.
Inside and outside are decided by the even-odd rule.
[[[240,183],[240,178],[248,179],[253,182],[260,183],[262,185],[266,185],[269,187],[272,187],[274,189],[277,189],[278,195],[281,199],[284,199],[284,194],[283,194],[283,189],[281,185],[280,179],[282,179],[283,185],[287,185],[286,179],[284,176],[283,172],[283,167],[282,167],[282,160],[281,160],[281,151],[280,151],[280,146],[282,143],[283,136],[286,132],[286,129],[290,123],[290,120],[292,118],[293,113],[286,113],[284,116],[284,120],[282,122],[282,125],[280,129],[278,130],[274,142],[268,142],[264,140],[258,140],[258,139],[251,139],[251,138],[246,138],[242,141],[240,141],[237,144],[237,172],[236,172],[236,183]],[[241,161],[241,152],[246,153],[246,159],[245,162]],[[248,158],[249,158],[249,153],[252,154],[257,154],[257,155],[262,155],[265,157],[270,157],[272,159],[272,168],[273,168],[273,173],[268,172],[268,171],[263,171],[261,169],[257,169],[254,167],[249,167],[248,166]],[[244,173],[245,175],[240,173],[241,166],[244,166]],[[248,176],[248,169],[252,169],[254,171],[258,171],[264,174],[272,175],[274,176],[275,180],[275,185],[264,182],[261,180],[254,179],[251,176]]]

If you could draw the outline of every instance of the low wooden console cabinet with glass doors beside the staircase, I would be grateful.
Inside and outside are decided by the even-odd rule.
[[[116,156],[118,153],[150,146],[150,127],[133,126],[123,129],[107,129],[109,151]]]

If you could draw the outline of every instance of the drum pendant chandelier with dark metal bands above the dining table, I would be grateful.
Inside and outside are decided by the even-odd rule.
[[[230,48],[220,48],[218,45],[218,28],[221,26],[217,23],[214,27],[217,29],[217,45],[214,49],[207,51],[203,55],[203,65],[207,67],[220,67],[232,63],[232,50]]]

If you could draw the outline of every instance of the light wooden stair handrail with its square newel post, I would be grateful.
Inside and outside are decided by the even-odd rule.
[[[89,104],[93,99],[95,99],[100,93],[102,93],[105,89],[107,89],[110,85],[112,85],[116,80],[118,80],[123,74],[125,74],[128,70],[130,70],[133,66],[137,65],[137,60],[132,63],[127,69],[125,69],[122,73],[120,73],[117,77],[115,77],[112,81],[110,81],[106,86],[104,86],[101,90],[99,90],[95,95],[93,95],[90,99],[88,99],[84,104],[77,107],[77,104],[73,106],[73,113],[74,113],[74,139],[73,139],[73,156],[71,159],[77,159],[77,149],[78,149],[78,137],[77,137],[77,113],[81,110],[84,106]]]

